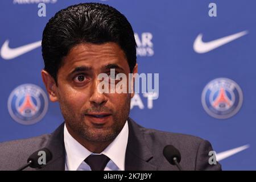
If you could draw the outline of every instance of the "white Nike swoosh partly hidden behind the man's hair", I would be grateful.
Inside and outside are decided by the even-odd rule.
[[[41,40],[38,42],[30,43],[17,48],[10,48],[9,40],[6,40],[5,43],[3,43],[3,46],[0,51],[0,55],[2,56],[3,59],[6,59],[6,60],[14,59],[15,57],[23,55],[24,53],[32,51],[33,49],[38,48],[40,46],[41,46]]]

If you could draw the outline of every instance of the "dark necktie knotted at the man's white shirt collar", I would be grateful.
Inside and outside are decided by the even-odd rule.
[[[104,155],[89,155],[88,158],[84,160],[89,166],[92,171],[103,171],[106,167],[106,164],[109,162],[109,158]]]

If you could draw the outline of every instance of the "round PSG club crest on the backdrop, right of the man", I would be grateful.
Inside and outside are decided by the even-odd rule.
[[[216,78],[204,88],[201,102],[204,110],[212,117],[226,119],[241,108],[243,94],[240,86],[229,78]]]

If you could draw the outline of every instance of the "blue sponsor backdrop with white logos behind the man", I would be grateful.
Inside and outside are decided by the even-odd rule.
[[[42,17],[39,1],[0,2],[0,142],[51,133],[63,122],[59,105],[44,97],[40,40],[57,11],[89,1],[42,2]],[[255,170],[256,1],[90,2],[125,14],[138,44],[139,73],[159,73],[158,99],[150,105],[138,94],[131,118],[209,140],[225,170]],[[29,104],[34,110],[26,110]]]

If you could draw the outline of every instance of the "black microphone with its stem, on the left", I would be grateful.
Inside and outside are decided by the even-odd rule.
[[[39,158],[41,158],[42,156],[45,156],[44,159],[44,164],[39,164]],[[48,148],[42,148],[38,151],[35,151],[33,154],[31,154],[29,156],[29,158],[27,159],[27,164],[23,165],[22,167],[20,167],[19,169],[17,169],[16,171],[22,171],[23,169],[27,168],[27,167],[32,167],[32,168],[42,168],[44,165],[46,165],[50,160],[52,159],[52,153],[51,151],[48,150]]]

